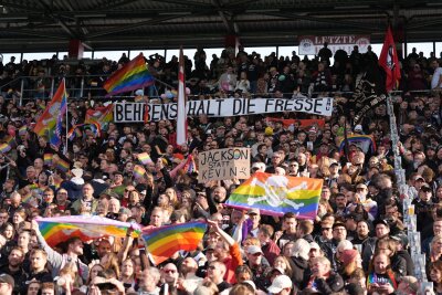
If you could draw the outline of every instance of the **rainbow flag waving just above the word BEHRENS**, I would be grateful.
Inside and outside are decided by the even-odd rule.
[[[104,83],[103,88],[107,91],[106,96],[118,93],[144,88],[155,83],[146,66],[145,57],[140,53],[125,66],[113,73]]]

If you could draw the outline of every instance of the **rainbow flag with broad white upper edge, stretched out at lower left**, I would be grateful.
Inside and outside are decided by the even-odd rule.
[[[56,246],[60,242],[77,236],[83,242],[96,240],[103,236],[125,238],[128,228],[134,228],[134,238],[140,234],[140,228],[136,223],[120,222],[102,217],[72,215],[56,218],[38,218],[39,229],[50,246]]]

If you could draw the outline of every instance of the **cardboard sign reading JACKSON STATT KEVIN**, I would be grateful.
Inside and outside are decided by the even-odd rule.
[[[250,148],[222,148],[198,154],[198,182],[249,179]]]

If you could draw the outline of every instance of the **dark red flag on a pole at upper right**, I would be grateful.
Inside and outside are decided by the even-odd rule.
[[[387,92],[390,92],[400,80],[398,53],[396,51],[396,44],[390,27],[388,27],[386,39],[383,41],[382,51],[379,56],[379,65],[383,71],[386,71],[386,89]]]

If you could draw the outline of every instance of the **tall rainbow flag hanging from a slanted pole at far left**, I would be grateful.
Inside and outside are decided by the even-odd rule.
[[[59,139],[61,137],[57,133],[60,133],[63,112],[66,109],[66,88],[63,80],[52,97],[52,101],[48,104],[34,126],[34,133],[39,136],[46,135],[51,144],[56,144],[57,137]]]

